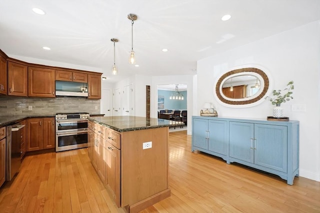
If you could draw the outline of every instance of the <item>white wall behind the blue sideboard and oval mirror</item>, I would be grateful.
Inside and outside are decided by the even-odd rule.
[[[236,38],[235,38],[236,39]],[[270,73],[274,89],[294,81],[293,100],[281,104],[284,116],[300,121],[299,175],[320,181],[320,22],[287,30],[197,62],[197,98],[193,115],[204,102],[213,102],[219,116],[266,119],[273,105],[265,100],[249,108],[229,108],[213,97],[216,78],[234,66],[257,64]],[[204,95],[206,94],[206,95]],[[305,112],[291,112],[304,104]]]

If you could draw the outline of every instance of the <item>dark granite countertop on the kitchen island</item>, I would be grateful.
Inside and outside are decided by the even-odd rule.
[[[98,123],[117,132],[128,132],[143,129],[168,127],[170,121],[158,118],[147,119],[136,116],[92,117],[89,121]]]

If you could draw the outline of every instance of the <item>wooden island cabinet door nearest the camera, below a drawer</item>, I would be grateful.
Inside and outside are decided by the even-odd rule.
[[[120,150],[107,142],[106,185],[116,206],[120,207]]]

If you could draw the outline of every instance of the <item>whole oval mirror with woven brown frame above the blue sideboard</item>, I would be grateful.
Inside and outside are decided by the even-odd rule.
[[[269,89],[269,78],[255,67],[234,69],[218,78],[215,95],[230,107],[247,107],[258,103]]]

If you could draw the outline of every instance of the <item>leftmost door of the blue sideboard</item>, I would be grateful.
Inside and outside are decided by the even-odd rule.
[[[194,118],[192,121],[192,152],[194,147],[208,149],[208,120]]]

